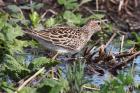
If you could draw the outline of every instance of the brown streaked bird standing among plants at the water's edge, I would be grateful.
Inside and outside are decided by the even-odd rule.
[[[56,26],[45,30],[24,30],[41,45],[57,53],[77,53],[90,40],[91,36],[100,31],[99,21],[90,20],[82,27]]]

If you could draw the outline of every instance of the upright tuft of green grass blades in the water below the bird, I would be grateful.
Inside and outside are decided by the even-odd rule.
[[[81,93],[83,84],[89,82],[84,78],[84,64],[81,62],[74,62],[73,65],[67,65],[66,78],[69,83],[70,93]]]

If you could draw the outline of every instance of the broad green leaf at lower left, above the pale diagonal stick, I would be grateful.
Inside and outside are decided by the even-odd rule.
[[[21,65],[14,57],[8,54],[5,55],[3,66],[5,68],[5,73],[14,80],[23,78],[23,76],[30,72],[29,69]]]

